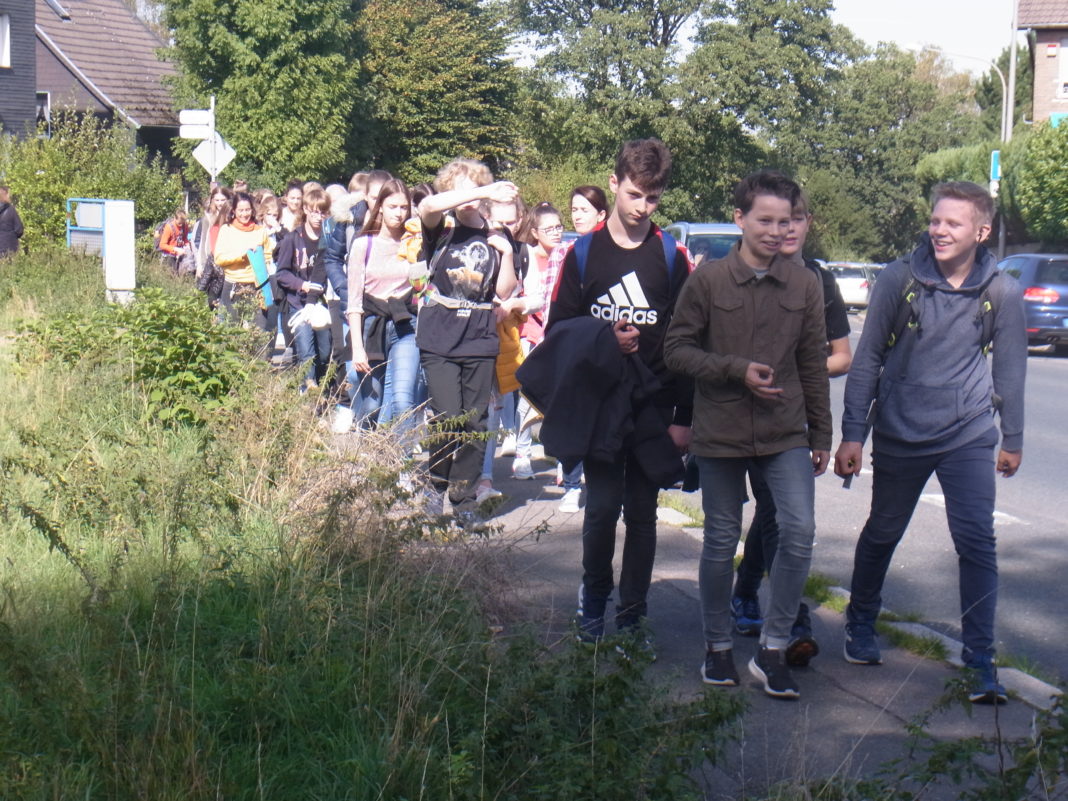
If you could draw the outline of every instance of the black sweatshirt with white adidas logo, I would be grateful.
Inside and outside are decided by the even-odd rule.
[[[670,405],[689,406],[692,394],[675,397],[676,376],[663,363],[668,324],[689,274],[690,260],[682,247],[675,251],[675,264],[669,271],[656,225],[649,227],[645,241],[633,249],[621,248],[608,227],[601,225],[593,233],[583,280],[579,278],[574,247],[564,258],[549,308],[548,329],[559,320],[585,315],[608,324],[629,320],[641,332],[638,354],[664,384],[665,396],[672,396]]]

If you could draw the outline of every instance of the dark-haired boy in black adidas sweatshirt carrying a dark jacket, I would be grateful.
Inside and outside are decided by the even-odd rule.
[[[590,248],[582,269],[578,249],[567,253],[553,290],[547,331],[560,320],[587,315],[611,325],[619,350],[638,354],[660,380],[654,404],[684,454],[690,442],[692,392],[664,366],[663,339],[691,264],[681,247],[672,253],[673,264],[665,263],[661,232],[649,219],[670,175],[671,153],[663,142],[643,139],[623,145],[609,178],[615,205],[608,219],[587,234]],[[614,461],[587,458],[585,475],[579,626],[581,639],[596,641],[604,633],[604,612],[613,590],[612,556],[621,511],[626,534],[616,627],[623,633],[635,633],[645,617],[660,488],[626,445]]]

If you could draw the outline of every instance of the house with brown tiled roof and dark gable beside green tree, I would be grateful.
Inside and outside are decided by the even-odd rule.
[[[38,119],[61,108],[97,114],[130,126],[138,144],[170,153],[178,119],[164,80],[175,70],[157,57],[156,34],[123,0],[32,1]]]

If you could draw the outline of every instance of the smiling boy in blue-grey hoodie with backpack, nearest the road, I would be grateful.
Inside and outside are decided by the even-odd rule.
[[[875,635],[882,583],[936,473],[959,556],[969,697],[998,704],[1006,695],[994,666],[994,472],[1011,476],[1023,453],[1023,299],[981,247],[994,213],[987,191],[939,184],[931,205],[920,246],[886,267],[871,292],[846,382],[834,472],[847,478],[861,472],[870,429],[874,475],[871,511],[853,559],[845,657],[853,664],[882,661]]]

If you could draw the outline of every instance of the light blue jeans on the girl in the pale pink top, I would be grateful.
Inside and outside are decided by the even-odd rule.
[[[364,342],[371,332],[372,320],[363,324]],[[415,328],[411,321],[386,323],[386,359],[371,362],[370,373],[356,373],[349,377],[356,387],[352,411],[363,427],[377,420],[387,423],[398,420],[400,433],[414,425],[408,412],[415,407],[419,383],[419,347]]]

